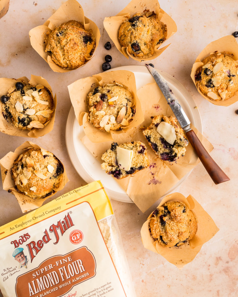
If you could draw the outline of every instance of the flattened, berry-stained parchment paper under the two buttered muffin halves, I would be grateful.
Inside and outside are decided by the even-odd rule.
[[[141,132],[141,127],[148,127],[151,124],[151,116],[173,114],[165,97],[160,91],[156,83],[150,83],[143,86],[137,91],[140,99],[141,108],[144,112],[145,121],[138,126],[129,130],[125,134],[115,135],[114,141],[118,144],[126,141],[141,140],[147,147],[148,159],[150,167],[143,169],[132,176],[128,176],[121,180],[115,179],[118,184],[125,190],[126,194],[133,200],[133,202],[145,212],[151,207],[160,197],[165,195],[181,178],[192,170],[199,162],[197,154],[193,150],[190,143],[186,147],[184,157],[180,157],[175,162],[161,161],[150,146]],[[203,146],[208,152],[212,151],[213,146],[209,141],[191,125]],[[102,154],[111,147],[111,142],[92,143],[87,136],[82,138],[82,143],[95,156],[100,163]],[[171,164],[171,165],[170,165]],[[204,169],[205,170],[205,169]],[[102,170],[102,174],[106,174]],[[112,176],[110,176],[113,178]],[[207,178],[209,176],[207,175]]]

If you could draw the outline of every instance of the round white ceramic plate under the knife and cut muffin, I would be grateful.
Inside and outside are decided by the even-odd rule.
[[[153,83],[154,78],[148,72],[145,66],[133,65],[133,66],[122,66],[117,67],[112,70],[129,70],[134,72],[136,79],[137,90],[147,83]],[[158,70],[159,71],[159,70]],[[195,109],[195,102],[188,93],[188,91],[181,85],[175,78],[169,74],[159,71],[159,73],[167,80],[168,85],[173,90],[173,93],[183,107],[185,113],[190,119],[191,123],[202,133],[202,122],[198,109]],[[66,123],[66,146],[68,150],[71,162],[79,173],[79,175],[87,182],[90,183],[95,180],[101,180],[104,187],[107,188],[110,197],[114,200],[122,202],[132,202],[131,198],[126,194],[126,192],[118,185],[115,179],[105,173],[101,169],[101,163],[93,157],[90,151],[82,144],[81,139],[85,135],[82,126],[79,126],[78,121],[74,115],[73,106],[68,115]],[[191,170],[192,171],[192,170]],[[190,171],[190,172],[191,172]],[[172,192],[176,187],[178,187],[187,178],[188,173],[184,176],[176,185],[174,185],[165,195]],[[159,198],[158,198],[159,199]]]

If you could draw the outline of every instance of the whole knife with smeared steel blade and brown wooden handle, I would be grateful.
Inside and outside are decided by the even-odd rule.
[[[179,104],[177,98],[173,94],[166,80],[159,74],[159,72],[152,66],[145,64],[151,75],[154,77],[159,89],[162,91],[168,105],[172,109],[174,115],[176,116],[181,128],[184,130],[189,142],[191,143],[193,149],[201,160],[204,168],[208,172],[209,176],[212,178],[215,184],[223,183],[224,181],[229,181],[230,178],[223,172],[223,170],[217,165],[217,163],[212,159],[209,153],[206,151],[201,141],[198,139],[195,132],[190,128],[190,120],[188,119],[183,108]]]

